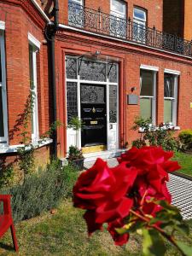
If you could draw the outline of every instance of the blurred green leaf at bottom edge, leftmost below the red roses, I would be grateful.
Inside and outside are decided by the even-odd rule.
[[[143,229],[143,255],[163,256],[165,253],[166,247],[159,232]]]

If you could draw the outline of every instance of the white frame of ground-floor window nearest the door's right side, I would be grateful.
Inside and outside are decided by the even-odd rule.
[[[151,106],[151,116],[152,116],[152,124],[153,125],[156,125],[156,87],[157,87],[157,71],[159,70],[158,67],[152,67],[152,66],[144,66],[144,65],[141,65],[140,67],[140,90],[141,90],[141,83],[142,83],[142,80],[141,80],[141,72],[143,71],[152,71],[153,74],[154,74],[154,77],[153,77],[153,81],[154,81],[154,88],[153,88],[153,91],[154,91],[154,96],[141,96],[140,94],[140,99],[141,98],[151,98],[152,99],[152,106]]]

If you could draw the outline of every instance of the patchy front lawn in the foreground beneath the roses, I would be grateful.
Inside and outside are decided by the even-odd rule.
[[[19,255],[130,255],[141,253],[141,237],[130,238],[124,247],[116,247],[107,231],[96,232],[88,238],[83,211],[73,208],[70,200],[64,201],[55,214],[47,212],[37,218],[16,225],[20,245]],[[187,242],[192,243],[191,230]],[[183,237],[179,237],[183,240]],[[172,246],[166,244],[167,256],[180,255]],[[0,242],[0,255],[15,255],[10,232]]]

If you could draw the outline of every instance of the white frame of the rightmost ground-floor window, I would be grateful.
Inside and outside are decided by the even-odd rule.
[[[164,95],[164,102],[165,100],[171,100],[172,101],[172,122],[170,122],[170,125],[176,126],[177,125],[177,90],[178,90],[178,76],[180,75],[180,72],[170,70],[170,69],[165,69],[164,70],[164,75],[165,74],[171,74],[174,76],[174,97],[165,97]],[[164,86],[165,86],[165,78],[164,78]]]

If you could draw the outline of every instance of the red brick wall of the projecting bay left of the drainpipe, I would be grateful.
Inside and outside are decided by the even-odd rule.
[[[49,83],[47,73],[47,47],[43,45],[42,29],[35,24],[24,9],[19,6],[0,3],[5,21],[6,73],[9,145],[20,143],[18,134],[21,126],[17,119],[24,112],[29,95],[29,51],[28,32],[41,43],[38,56],[38,121],[40,134],[49,127]],[[29,127],[30,129],[30,127]]]

